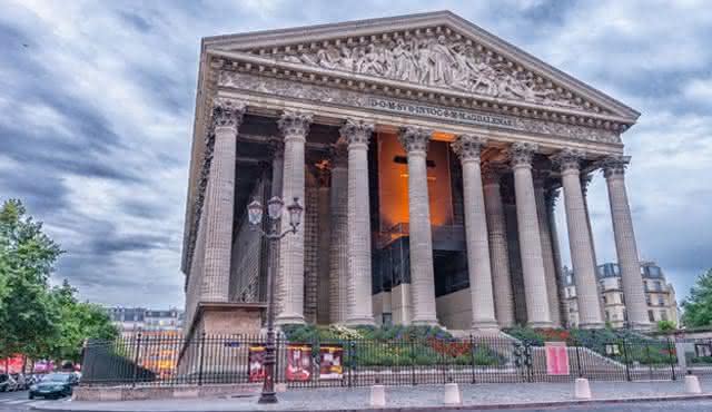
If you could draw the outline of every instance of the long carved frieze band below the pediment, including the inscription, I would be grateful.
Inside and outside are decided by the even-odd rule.
[[[319,104],[350,106],[384,112],[425,117],[462,125],[496,127],[501,129],[558,136],[576,140],[621,143],[620,137],[614,131],[605,129],[595,129],[584,126],[566,125],[514,116],[493,115],[475,110],[421,104],[413,100],[376,97],[358,91],[227,70],[220,71],[218,86],[250,92],[259,92],[263,95],[310,100]]]

